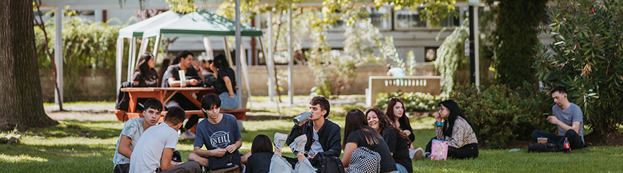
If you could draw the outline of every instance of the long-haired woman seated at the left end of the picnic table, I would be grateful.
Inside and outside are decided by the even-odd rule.
[[[141,58],[138,58],[138,65],[134,68],[134,75],[132,75],[132,81],[138,87],[157,87],[158,86],[158,72],[154,69],[156,66],[156,60],[154,60],[152,53],[144,53]]]

